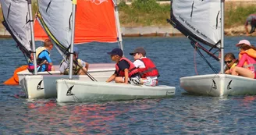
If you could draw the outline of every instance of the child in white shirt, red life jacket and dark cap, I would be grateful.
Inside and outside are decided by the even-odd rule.
[[[146,58],[144,48],[136,48],[130,55],[133,55],[133,64],[138,68],[140,73],[140,83],[155,87],[158,84],[158,69],[155,67],[151,59]]]

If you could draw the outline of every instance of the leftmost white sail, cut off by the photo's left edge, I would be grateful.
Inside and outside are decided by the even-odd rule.
[[[3,25],[20,50],[30,58],[31,33],[27,0],[1,0],[0,2],[4,18]]]

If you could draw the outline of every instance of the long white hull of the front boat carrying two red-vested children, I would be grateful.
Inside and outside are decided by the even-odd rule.
[[[118,101],[140,98],[167,98],[175,94],[175,87],[146,87],[123,83],[57,80],[57,101]]]

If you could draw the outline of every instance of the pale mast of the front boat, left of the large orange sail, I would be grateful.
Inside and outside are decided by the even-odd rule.
[[[74,37],[75,37],[75,19],[76,19],[76,0],[72,1],[72,34],[71,34],[71,46],[70,46],[70,55],[69,55],[69,80],[72,80],[72,71],[73,71],[73,46],[74,46]]]

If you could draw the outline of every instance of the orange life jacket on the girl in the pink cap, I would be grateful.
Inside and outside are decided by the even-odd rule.
[[[239,53],[239,60],[242,58],[242,56],[244,54],[247,54],[248,56],[250,56],[251,58],[255,59],[256,60],[256,51],[253,49],[253,48],[250,48],[248,49],[247,51],[243,51],[243,52],[240,52]],[[244,68],[247,68],[247,69],[251,69],[251,68],[254,68],[256,63],[247,63],[247,62],[244,62]]]

